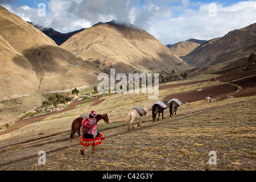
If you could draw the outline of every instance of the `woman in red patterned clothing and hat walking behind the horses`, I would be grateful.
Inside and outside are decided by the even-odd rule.
[[[98,133],[98,125],[96,122],[97,113],[92,110],[89,118],[85,118],[82,121],[82,137],[80,138],[80,144],[84,146],[81,154],[84,155],[84,151],[88,146],[92,146],[92,154],[95,154],[95,148],[98,144],[101,144],[102,140],[106,139],[102,134]],[[88,130],[88,126],[90,129]]]

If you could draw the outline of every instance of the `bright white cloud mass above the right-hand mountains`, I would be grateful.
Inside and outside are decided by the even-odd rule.
[[[239,2],[228,7],[216,4],[216,16],[209,15],[209,8],[209,4],[205,4],[198,11],[184,9],[177,18],[170,16],[151,23],[149,27],[155,28],[149,31],[167,45],[190,38],[210,40],[256,23],[256,1]]]

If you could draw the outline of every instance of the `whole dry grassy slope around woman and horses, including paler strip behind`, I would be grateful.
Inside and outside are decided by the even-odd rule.
[[[186,89],[195,89],[193,85]],[[160,92],[162,100],[168,89]],[[65,113],[50,115],[13,133],[3,142],[19,144],[1,149],[0,169],[5,170],[255,170],[255,97],[229,98],[212,103],[191,102],[177,109],[177,115],[152,122],[151,113],[142,127],[127,131],[126,115],[133,106],[148,107],[146,94],[105,96],[94,106],[108,113],[110,123],[99,123],[106,139],[96,147],[96,154],[80,154],[79,137],[69,142],[73,118],[90,110],[92,102]],[[132,99],[131,99],[132,98]],[[33,131],[34,130],[34,131]],[[39,138],[38,131],[45,137]],[[52,133],[56,135],[51,136]],[[47,137],[48,136],[48,137]],[[2,138],[2,136],[1,136]],[[30,140],[29,140],[30,139]],[[27,140],[27,142],[26,142]],[[37,153],[46,151],[47,164],[39,165]],[[217,164],[210,165],[208,155],[216,151]],[[24,159],[26,158],[26,159]],[[6,164],[11,162],[10,164]],[[1,166],[2,165],[2,166]]]

